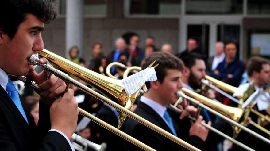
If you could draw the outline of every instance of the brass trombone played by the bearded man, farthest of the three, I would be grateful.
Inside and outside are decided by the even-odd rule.
[[[236,87],[233,87],[229,84],[226,84],[222,81],[219,81],[217,79],[214,79],[213,77],[210,77],[208,75],[205,76],[205,79],[211,81],[213,84],[210,84],[207,81],[202,81],[204,84],[207,84],[208,86],[210,86],[210,88],[213,88],[214,90],[216,90],[217,92],[220,92],[222,95],[225,95],[226,97],[228,97],[229,99],[233,100],[234,102],[238,103],[239,105],[242,105],[243,102],[251,95],[248,94],[249,90],[247,90],[244,94],[242,94],[241,96],[238,97],[238,99],[235,99],[234,97],[232,97],[231,95],[227,94],[226,92],[230,92],[230,93],[235,93],[237,91]],[[217,87],[225,90],[226,92],[223,92],[222,90],[218,89],[215,85],[217,85]],[[254,84],[251,85],[249,88],[254,87]],[[251,106],[247,106],[250,108],[250,112],[256,114],[257,116],[259,116],[260,118],[267,120],[268,122],[270,122],[270,118],[259,113],[258,111],[254,110]],[[250,124],[252,124],[253,126],[257,127],[258,129],[260,129],[261,131],[264,131],[265,133],[267,133],[268,135],[270,135],[270,131],[268,131],[267,129],[263,128],[262,126],[260,126],[259,124],[250,121]]]

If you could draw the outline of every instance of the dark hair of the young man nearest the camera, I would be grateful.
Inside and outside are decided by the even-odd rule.
[[[49,23],[57,16],[52,0],[1,0],[0,29],[12,39],[28,14]]]

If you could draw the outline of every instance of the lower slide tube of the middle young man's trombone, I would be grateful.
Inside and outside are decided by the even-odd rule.
[[[176,105],[176,104],[175,104],[175,105]],[[174,110],[176,110],[176,111],[179,112],[179,113],[182,112],[182,110],[178,109],[176,106],[174,106],[174,105],[172,105],[172,104],[170,104],[169,107],[172,108],[172,109],[174,109]],[[187,116],[187,117],[188,117],[190,120],[193,120],[193,121],[196,120],[194,117],[191,117],[191,116]],[[243,143],[241,143],[241,142],[239,142],[239,141],[233,139],[232,137],[230,137],[230,136],[228,136],[228,135],[222,133],[221,131],[217,130],[216,128],[213,128],[212,126],[209,126],[208,124],[206,124],[206,123],[204,123],[204,122],[201,122],[200,124],[202,124],[204,127],[208,128],[209,130],[211,130],[211,131],[217,133],[218,135],[220,135],[220,136],[222,136],[222,137],[224,137],[224,138],[226,138],[226,139],[232,141],[234,144],[236,144],[236,145],[242,147],[243,149],[250,150],[250,151],[255,151],[254,149],[250,148],[249,146],[246,146],[245,144],[243,144]]]

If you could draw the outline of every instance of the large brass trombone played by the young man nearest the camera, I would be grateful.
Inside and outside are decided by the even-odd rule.
[[[82,91],[89,93],[90,95],[96,97],[97,99],[106,102],[110,106],[113,106],[114,108],[117,109],[118,112],[118,128],[122,125],[124,122],[126,116],[129,116],[133,118],[134,120],[137,120],[141,124],[144,124],[145,126],[151,128],[152,130],[160,133],[161,135],[169,138],[170,140],[178,143],[179,145],[189,149],[189,150],[199,150],[194,146],[191,146],[187,142],[184,142],[180,138],[177,138],[176,136],[172,135],[171,133],[165,131],[164,129],[152,124],[151,122],[143,119],[142,117],[138,116],[137,114],[129,111],[131,106],[134,103],[134,100],[136,99],[138,93],[140,90],[137,90],[137,92],[134,92],[132,95],[127,95],[125,92],[125,89],[123,87],[122,81],[118,79],[112,79],[110,77],[103,76],[101,74],[98,74],[94,71],[88,70],[87,68],[81,67],[63,57],[60,57],[52,52],[49,52],[46,49],[43,49],[42,52],[39,53],[40,56],[45,57],[48,61],[50,61],[52,64],[56,65],[57,67],[61,68],[62,70],[71,73],[75,75],[76,77],[79,77],[83,81],[91,84],[93,87],[95,87],[101,94],[98,92],[95,92],[94,90],[88,88],[87,86],[79,83],[78,81],[75,81],[74,79],[70,78],[67,74],[64,74],[62,71],[57,70],[53,68],[49,64],[39,64],[37,63],[38,56],[37,55],[32,55],[29,59],[29,63],[32,65],[40,65],[44,68],[44,70],[49,71],[50,73],[55,74],[57,77],[60,79],[64,80],[68,84],[74,84],[76,87],[81,89]],[[106,97],[105,97],[106,96]],[[111,98],[111,99],[109,99]],[[80,113],[83,114],[84,116],[91,117],[91,114],[88,115],[89,113],[83,111],[82,109],[79,109]],[[97,122],[100,125],[106,125],[107,123],[103,123],[102,120],[96,119],[96,117],[91,117],[91,119],[94,122]],[[102,123],[102,124],[101,124]],[[107,125],[107,127],[110,127],[111,125]],[[105,128],[107,128],[105,127]],[[112,126],[111,126],[112,127]],[[107,128],[109,129],[109,128]],[[118,132],[119,131],[117,128],[116,130],[113,128],[109,129],[110,131],[113,131],[117,135],[120,135]],[[117,132],[118,131],[118,132]],[[122,132],[123,133],[123,132]],[[121,137],[125,138],[126,140],[132,142],[133,144],[145,149],[145,150],[152,150],[149,148],[149,146],[143,146],[144,144],[137,141],[134,138],[130,138],[129,135],[121,133]]]

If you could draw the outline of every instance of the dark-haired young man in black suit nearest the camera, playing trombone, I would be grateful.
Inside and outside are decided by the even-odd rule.
[[[78,118],[73,91],[64,93],[64,81],[54,75],[46,80],[45,71],[31,72],[33,66],[28,65],[29,57],[44,47],[44,23],[56,17],[52,1],[5,0],[0,5],[0,150],[74,150],[69,141]],[[48,60],[40,59],[39,63]],[[38,126],[10,80],[10,75],[27,73],[44,90],[40,93]],[[60,94],[64,95],[52,100]]]

